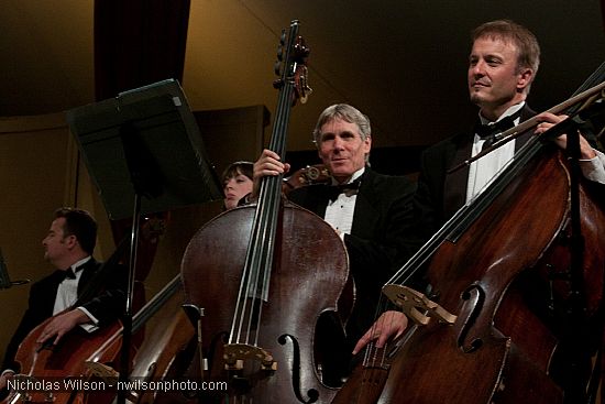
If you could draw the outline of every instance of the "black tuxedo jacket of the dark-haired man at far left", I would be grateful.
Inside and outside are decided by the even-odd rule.
[[[108,269],[108,275],[103,280],[99,280],[96,275],[100,269],[101,263],[95,259],[89,260],[82,265],[82,274],[78,282],[78,299],[84,293],[95,297],[78,305],[89,310],[99,320],[99,326],[102,327],[107,323],[119,318],[124,312],[124,291],[128,285],[128,272],[123,266],[119,265]],[[14,362],[19,345],[32,329],[53,316],[57,288],[64,279],[65,272],[57,270],[32,284],[28,309],[7,347],[2,369],[19,371],[19,365]],[[88,285],[91,285],[91,288],[86,291]]]

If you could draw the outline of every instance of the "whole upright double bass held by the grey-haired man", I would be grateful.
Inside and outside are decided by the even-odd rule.
[[[298,28],[293,21],[280,44],[270,149],[283,160],[290,108],[308,92]],[[334,394],[321,382],[316,324],[338,310],[346,252],[327,222],[282,198],[282,185],[264,177],[255,205],[209,221],[183,256],[186,304],[199,313],[199,382],[216,389],[202,402],[329,403]]]

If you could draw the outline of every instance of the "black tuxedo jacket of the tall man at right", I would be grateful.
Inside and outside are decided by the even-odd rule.
[[[534,117],[527,103],[521,109],[520,120]],[[531,138],[529,130],[515,141],[515,150]],[[420,176],[416,194],[416,207],[422,211],[425,236],[431,236],[466,201],[469,166],[454,173],[447,172],[471,157],[474,133],[472,131],[448,138],[425,150],[420,156]]]

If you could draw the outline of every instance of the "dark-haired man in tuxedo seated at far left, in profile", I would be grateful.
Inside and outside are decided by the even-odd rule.
[[[116,320],[124,310],[128,273],[117,266],[101,272],[92,258],[97,242],[97,222],[85,210],[61,208],[54,214],[48,233],[42,240],[44,259],[57,270],[34,283],[29,306],[4,356],[0,387],[19,372],[14,356],[32,329],[51,320],[36,342],[56,345],[76,326],[92,332]],[[97,276],[98,275],[98,276]]]

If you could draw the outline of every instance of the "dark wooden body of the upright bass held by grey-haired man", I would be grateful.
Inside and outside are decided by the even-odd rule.
[[[261,303],[261,339],[249,341],[271,352],[277,370],[245,361],[243,370],[226,371],[222,347],[235,312],[254,211],[255,206],[246,206],[215,218],[196,233],[183,258],[187,302],[204,313],[201,338],[210,361],[206,380],[227,381],[229,391],[219,392],[218,402],[308,402],[315,390],[318,403],[329,403],[336,391],[320,382],[315,325],[322,313],[338,310],[348,282],[346,253],[328,223],[294,205],[283,208],[278,223],[268,299]]]

